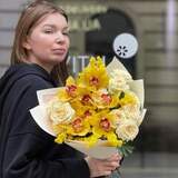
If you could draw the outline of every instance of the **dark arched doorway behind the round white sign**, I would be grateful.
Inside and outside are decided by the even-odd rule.
[[[106,13],[97,13],[91,19],[98,19],[101,29],[88,31],[86,33],[86,52],[95,56],[105,56],[106,63],[113,58],[112,50],[113,39],[123,32],[136,36],[135,27],[131,19],[122,11],[108,9]],[[119,59],[131,76],[136,77],[136,57],[131,59]]]

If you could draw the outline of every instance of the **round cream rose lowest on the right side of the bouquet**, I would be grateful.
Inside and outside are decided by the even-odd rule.
[[[139,128],[134,120],[125,120],[118,126],[116,134],[122,140],[134,140],[139,132]]]

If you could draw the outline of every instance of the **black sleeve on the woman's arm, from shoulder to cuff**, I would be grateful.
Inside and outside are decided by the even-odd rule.
[[[49,86],[36,79],[18,82],[12,91],[17,91],[19,86],[21,89],[19,88],[17,96],[13,92],[11,96],[18,98],[18,102],[13,106],[11,116],[13,123],[4,151],[3,178],[89,178],[90,172],[85,159],[48,159],[41,156],[44,150],[48,151],[50,139],[48,134],[36,125],[29,109],[37,106],[36,91]]]

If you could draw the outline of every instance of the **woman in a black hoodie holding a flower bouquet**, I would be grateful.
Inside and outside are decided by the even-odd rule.
[[[65,11],[47,1],[32,2],[19,19],[13,65],[0,81],[0,178],[88,178],[119,167],[119,155],[78,158],[30,116],[37,90],[57,87],[67,77],[68,31]]]

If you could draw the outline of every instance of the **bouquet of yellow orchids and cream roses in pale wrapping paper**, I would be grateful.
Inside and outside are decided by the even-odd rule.
[[[77,150],[106,158],[131,152],[130,142],[144,120],[144,81],[134,80],[115,57],[106,67],[100,57],[65,87],[37,91],[39,106],[30,110],[37,123]]]

